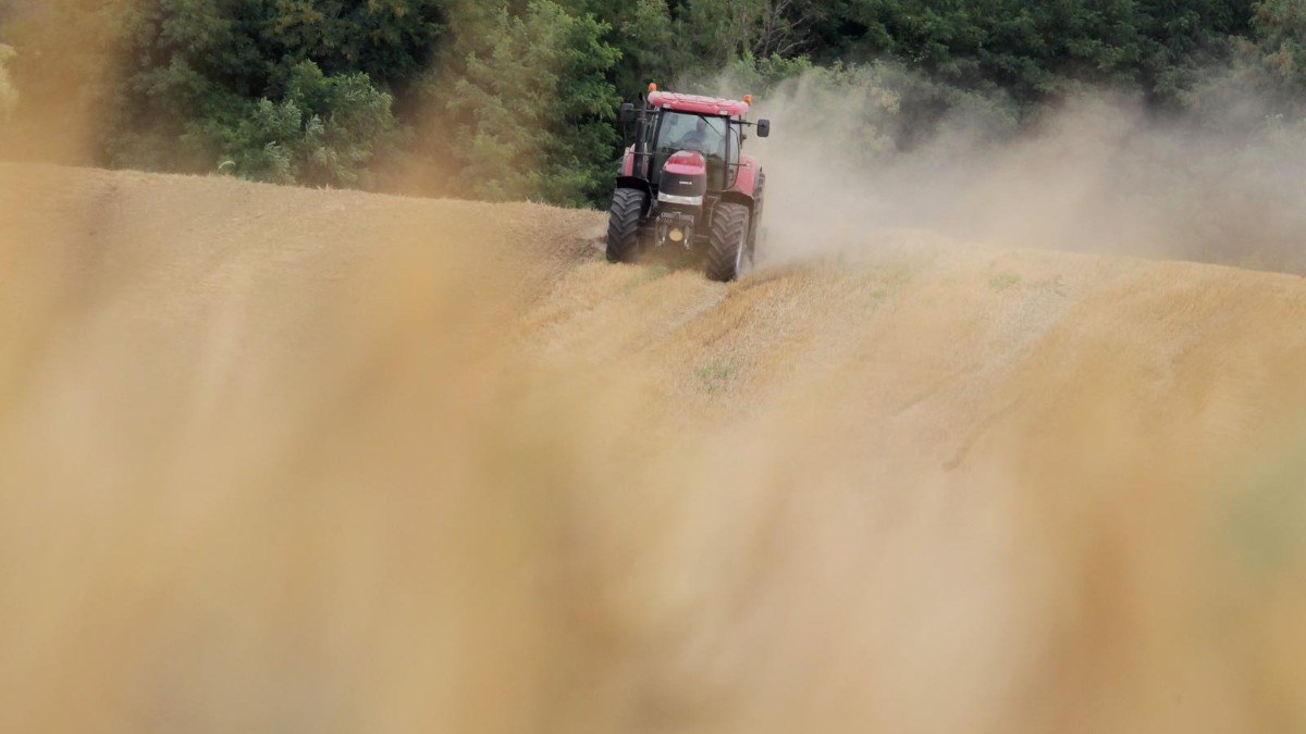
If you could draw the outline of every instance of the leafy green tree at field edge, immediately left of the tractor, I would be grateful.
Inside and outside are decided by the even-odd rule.
[[[482,199],[539,199],[581,206],[611,185],[613,120],[619,97],[607,80],[620,54],[610,26],[549,0],[500,7],[452,81],[432,84],[452,127],[451,155]]]

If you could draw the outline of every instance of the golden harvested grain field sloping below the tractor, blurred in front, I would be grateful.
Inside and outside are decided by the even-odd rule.
[[[1299,278],[0,179],[0,731],[1306,730]]]

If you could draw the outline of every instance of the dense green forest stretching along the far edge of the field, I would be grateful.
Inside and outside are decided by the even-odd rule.
[[[94,111],[101,165],[362,188],[426,167],[434,193],[577,206],[653,80],[871,86],[897,149],[957,108],[1016,135],[1085,89],[1199,120],[1255,91],[1250,127],[1306,98],[1306,0],[0,0],[0,116]]]

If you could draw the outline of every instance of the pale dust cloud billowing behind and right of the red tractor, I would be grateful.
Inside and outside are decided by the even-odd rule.
[[[1250,95],[1199,119],[1085,91],[1015,132],[1000,102],[913,120],[919,112],[904,110],[893,82],[832,89],[801,77],[759,101],[757,115],[776,123],[774,137],[751,141],[776,191],[774,257],[910,229],[999,247],[1306,272],[1306,135],[1249,124],[1268,114]]]

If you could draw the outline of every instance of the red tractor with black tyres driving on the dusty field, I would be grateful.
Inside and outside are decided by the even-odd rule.
[[[741,146],[746,127],[771,135],[771,121],[744,120],[751,97],[716,99],[658,91],[622,104],[635,144],[622,158],[607,221],[607,259],[631,263],[643,249],[705,252],[708,278],[733,281],[757,248],[767,176]]]

